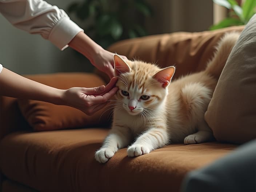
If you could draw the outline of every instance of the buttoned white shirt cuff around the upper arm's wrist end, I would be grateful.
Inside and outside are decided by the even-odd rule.
[[[49,40],[63,51],[68,47],[68,43],[81,31],[84,30],[70,20],[69,17],[64,17],[53,27]]]

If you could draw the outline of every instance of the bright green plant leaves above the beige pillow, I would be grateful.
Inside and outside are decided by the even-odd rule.
[[[229,9],[228,17],[216,25],[212,25],[210,30],[220,29],[233,25],[245,25],[255,13],[256,0],[244,0],[239,6],[236,0],[213,0],[214,3]]]

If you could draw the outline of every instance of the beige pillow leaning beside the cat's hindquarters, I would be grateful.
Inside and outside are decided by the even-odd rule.
[[[256,138],[256,15],[245,26],[221,73],[205,120],[218,141]]]

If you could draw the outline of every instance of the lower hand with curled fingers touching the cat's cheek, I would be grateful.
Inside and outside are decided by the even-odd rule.
[[[115,95],[118,90],[117,87],[114,87],[116,81],[117,78],[113,77],[106,86],[69,88],[64,91],[62,100],[65,105],[75,107],[87,115],[93,115],[95,112],[105,107],[107,101]]]

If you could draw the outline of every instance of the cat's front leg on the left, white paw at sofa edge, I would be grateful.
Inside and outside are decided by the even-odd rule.
[[[95,159],[100,163],[106,163],[114,156],[118,149],[124,148],[131,142],[131,132],[127,127],[115,126],[103,141],[102,147],[96,151]]]

